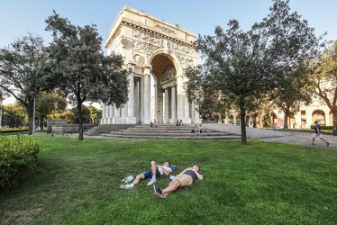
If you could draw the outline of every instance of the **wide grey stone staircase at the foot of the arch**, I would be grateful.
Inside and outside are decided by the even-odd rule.
[[[241,139],[241,136],[210,129],[205,129],[204,133],[191,133],[193,127],[193,124],[176,126],[172,123],[159,123],[157,128],[149,125],[103,124],[86,130],[85,134],[112,139]]]

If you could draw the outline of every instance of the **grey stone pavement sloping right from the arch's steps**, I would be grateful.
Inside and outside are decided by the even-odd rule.
[[[241,135],[241,127],[223,123],[203,123],[204,128],[229,132],[236,135]],[[280,142],[295,145],[309,145],[311,143],[314,130],[273,130],[259,129],[247,127],[247,138],[260,139],[270,142]],[[248,139],[248,140],[249,140]],[[337,136],[332,134],[323,134],[323,139],[329,141],[329,148],[337,148]],[[316,139],[315,147],[325,147],[326,144],[322,139]]]

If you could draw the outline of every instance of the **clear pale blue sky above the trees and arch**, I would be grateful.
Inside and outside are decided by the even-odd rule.
[[[244,31],[269,14],[272,0],[0,0],[0,48],[29,32],[51,41],[51,32],[44,31],[45,20],[55,10],[61,17],[79,26],[96,24],[103,38],[114,19],[127,5],[145,14],[178,24],[196,35],[214,35],[216,26],[227,29],[230,20],[237,20]],[[291,12],[302,15],[317,36],[327,31],[326,40],[337,40],[336,0],[290,0]],[[9,98],[4,101],[12,103]]]

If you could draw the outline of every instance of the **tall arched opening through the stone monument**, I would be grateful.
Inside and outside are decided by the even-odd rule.
[[[173,58],[159,53],[151,60],[152,71],[151,104],[152,120],[162,123],[173,123],[177,118],[177,70]]]

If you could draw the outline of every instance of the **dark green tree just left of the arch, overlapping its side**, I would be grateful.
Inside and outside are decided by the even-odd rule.
[[[46,31],[52,31],[53,37],[49,47],[50,67],[59,90],[70,104],[77,105],[78,139],[82,140],[82,104],[102,101],[120,107],[126,103],[128,71],[123,69],[122,56],[103,55],[96,25],[75,26],[53,13],[46,20]]]

